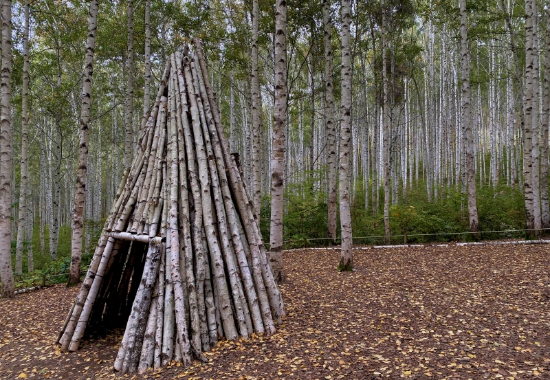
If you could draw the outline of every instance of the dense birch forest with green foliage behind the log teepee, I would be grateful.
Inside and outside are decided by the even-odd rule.
[[[3,297],[80,282],[192,38],[276,282],[293,247],[341,245],[346,271],[354,245],[550,229],[549,1],[1,0],[1,21]]]

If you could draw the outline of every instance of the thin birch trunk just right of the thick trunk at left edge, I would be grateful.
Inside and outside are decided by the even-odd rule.
[[[25,218],[27,212],[29,178],[29,0],[25,0],[25,27],[23,30],[23,87],[21,89],[21,181],[19,186],[19,221],[17,223],[17,247],[15,272],[23,273],[23,245],[25,242]]]

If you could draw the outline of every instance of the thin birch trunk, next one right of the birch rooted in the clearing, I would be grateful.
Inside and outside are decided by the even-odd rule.
[[[384,0],[382,0],[382,85],[383,85],[383,110],[382,110],[382,125],[384,130],[383,139],[383,155],[384,155],[384,234],[386,236],[386,244],[391,243],[390,239],[390,125],[388,111],[390,100],[388,95],[388,68],[386,56],[386,8]],[[428,173],[428,178],[430,174]],[[431,186],[428,186],[428,197],[431,192]]]

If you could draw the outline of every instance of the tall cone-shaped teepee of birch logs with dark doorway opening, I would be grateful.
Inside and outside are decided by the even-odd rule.
[[[187,50],[187,49],[186,49]],[[229,150],[198,40],[170,56],[140,144],[58,335],[126,321],[122,373],[205,359],[218,339],[272,334],[283,300]]]

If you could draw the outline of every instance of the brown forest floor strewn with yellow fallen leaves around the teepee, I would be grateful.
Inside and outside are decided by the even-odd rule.
[[[550,379],[550,245],[285,252],[287,317],[271,337],[140,379]],[[116,378],[122,329],[77,353],[53,341],[78,289],[0,300],[0,379]]]

